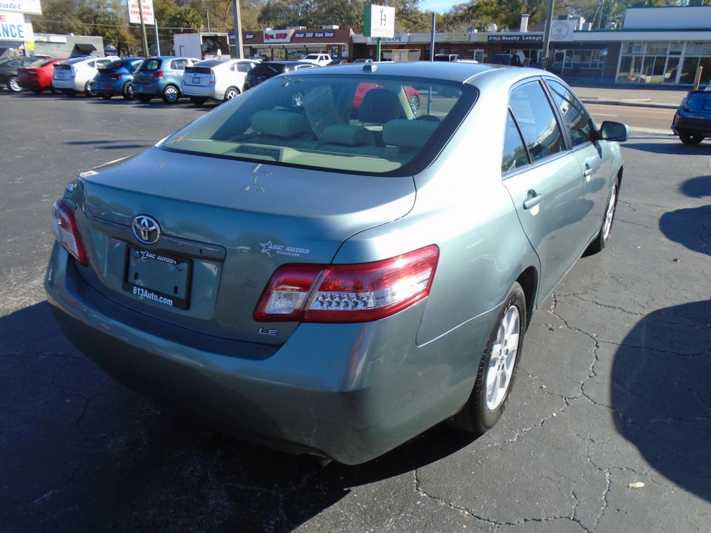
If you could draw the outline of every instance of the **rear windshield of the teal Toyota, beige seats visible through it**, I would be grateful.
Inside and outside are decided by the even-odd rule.
[[[470,85],[442,80],[363,78],[298,71],[274,77],[176,132],[161,149],[405,176],[432,162],[477,95]]]

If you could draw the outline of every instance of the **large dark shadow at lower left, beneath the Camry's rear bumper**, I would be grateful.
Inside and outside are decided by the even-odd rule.
[[[321,467],[196,423],[73,348],[47,302],[0,318],[4,531],[286,532],[351,488],[404,476],[475,438],[446,424],[369,463]],[[412,479],[411,479],[412,478]]]

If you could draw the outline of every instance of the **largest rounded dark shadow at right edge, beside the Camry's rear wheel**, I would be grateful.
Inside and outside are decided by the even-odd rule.
[[[642,318],[614,356],[610,389],[616,427],[651,471],[711,501],[709,375],[711,300],[705,300]]]

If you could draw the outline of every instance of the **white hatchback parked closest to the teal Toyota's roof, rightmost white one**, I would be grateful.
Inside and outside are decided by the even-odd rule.
[[[229,100],[244,92],[245,77],[260,63],[254,59],[208,59],[187,67],[180,90],[196,105],[207,100]]]

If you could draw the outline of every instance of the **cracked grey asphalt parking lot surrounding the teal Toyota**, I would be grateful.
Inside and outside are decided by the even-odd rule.
[[[206,109],[0,94],[4,532],[711,530],[711,141],[625,144],[610,245],[535,313],[492,431],[321,468],[117,384],[44,298],[65,183]]]

